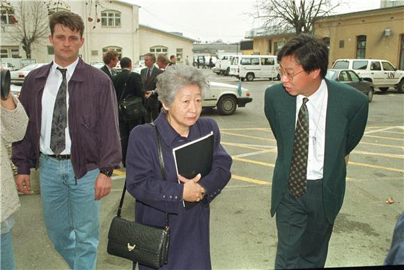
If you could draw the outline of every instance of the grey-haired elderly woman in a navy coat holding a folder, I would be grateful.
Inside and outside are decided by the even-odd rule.
[[[215,120],[199,118],[208,87],[199,70],[185,65],[170,66],[157,77],[157,94],[164,110],[155,125],[162,136],[166,181],[162,180],[160,171],[155,127],[137,126],[130,134],[126,157],[127,190],[137,200],[135,219],[164,227],[164,212],[169,213],[169,258],[161,269],[212,268],[209,205],[230,180],[232,159],[220,144]],[[215,143],[210,173],[194,179],[177,175],[172,149],[211,131]],[[185,211],[183,200],[198,203]],[[148,267],[140,264],[139,269]]]

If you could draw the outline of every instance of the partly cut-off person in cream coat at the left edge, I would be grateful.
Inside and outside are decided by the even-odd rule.
[[[1,70],[1,69],[0,69]],[[3,87],[3,86],[1,86]],[[1,144],[0,144],[0,194],[1,194],[1,269],[15,269],[13,251],[13,235],[11,229],[15,223],[14,213],[20,207],[13,171],[11,170],[10,158],[8,157],[7,145],[24,138],[28,117],[24,107],[12,93],[8,99],[1,98]],[[29,182],[26,182],[26,189],[30,191]]]

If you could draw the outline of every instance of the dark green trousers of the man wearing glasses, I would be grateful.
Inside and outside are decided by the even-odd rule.
[[[290,191],[277,209],[278,246],[275,269],[323,268],[332,226],[323,207],[323,180],[308,180],[306,193]]]

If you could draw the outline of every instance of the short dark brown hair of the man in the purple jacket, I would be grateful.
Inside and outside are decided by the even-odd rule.
[[[78,31],[80,33],[80,38],[83,38],[84,22],[76,13],[71,13],[70,11],[58,11],[52,14],[51,17],[49,17],[49,28],[52,36],[54,35],[56,24],[68,27],[71,31]]]

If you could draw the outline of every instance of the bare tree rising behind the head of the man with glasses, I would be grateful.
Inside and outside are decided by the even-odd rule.
[[[249,13],[272,33],[311,33],[316,17],[331,15],[341,0],[257,0]]]

